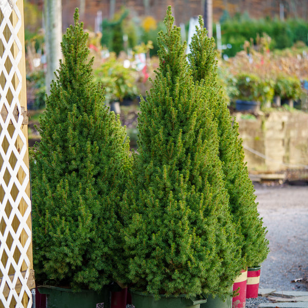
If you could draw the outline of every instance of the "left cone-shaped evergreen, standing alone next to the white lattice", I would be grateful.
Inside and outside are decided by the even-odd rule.
[[[100,290],[117,279],[129,144],[93,82],[88,35],[78,20],[76,10],[32,152],[33,263],[39,283]]]

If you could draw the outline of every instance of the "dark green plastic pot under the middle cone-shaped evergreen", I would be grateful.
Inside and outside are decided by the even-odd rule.
[[[131,303],[135,308],[200,308],[200,304],[205,302],[206,298],[187,299],[185,295],[168,297],[160,295],[160,299],[155,300],[152,294],[131,291]]]

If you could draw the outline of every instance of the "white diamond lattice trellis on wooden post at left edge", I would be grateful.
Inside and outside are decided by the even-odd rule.
[[[0,0],[0,10],[0,307],[31,307],[23,1]]]

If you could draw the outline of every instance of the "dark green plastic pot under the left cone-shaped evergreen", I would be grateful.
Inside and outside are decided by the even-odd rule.
[[[46,308],[110,308],[109,288],[102,292],[82,290],[73,292],[71,289],[56,286],[38,286],[41,294],[46,294]]]

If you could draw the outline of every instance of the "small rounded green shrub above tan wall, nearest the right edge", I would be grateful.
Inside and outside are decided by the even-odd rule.
[[[279,75],[277,77],[274,86],[274,91],[275,91],[275,97],[279,97],[280,101],[286,100],[290,108],[293,108],[294,106],[293,102],[300,98],[302,92],[299,79],[296,77],[285,76],[285,75]]]

